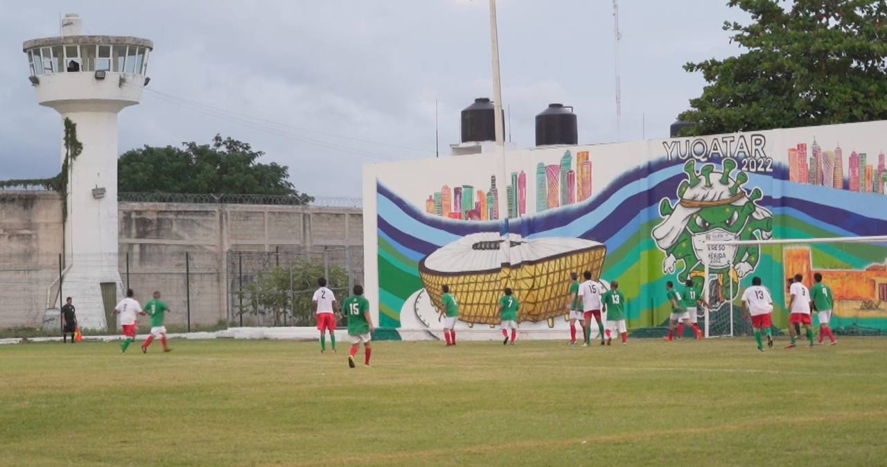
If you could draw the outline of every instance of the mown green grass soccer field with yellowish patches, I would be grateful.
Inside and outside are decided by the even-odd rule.
[[[172,346],[0,347],[0,463],[887,463],[887,339]]]

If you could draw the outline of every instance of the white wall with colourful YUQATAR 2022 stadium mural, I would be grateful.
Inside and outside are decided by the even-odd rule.
[[[730,304],[753,276],[784,325],[786,277],[814,272],[837,295],[833,328],[887,331],[887,244],[703,245],[887,235],[884,135],[887,121],[369,165],[367,296],[383,327],[436,330],[442,284],[459,327],[498,323],[509,286],[522,329],[566,329],[569,272],[591,270],[619,281],[639,329],[668,319],[667,281],[706,282],[708,258],[714,333],[742,326]]]

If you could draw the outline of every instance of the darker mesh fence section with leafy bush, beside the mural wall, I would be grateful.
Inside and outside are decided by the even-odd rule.
[[[228,321],[237,326],[310,326],[311,298],[326,277],[340,302],[362,284],[363,248],[227,254]]]

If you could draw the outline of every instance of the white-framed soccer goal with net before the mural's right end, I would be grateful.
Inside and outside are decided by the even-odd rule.
[[[822,276],[834,295],[830,327],[836,334],[887,335],[887,236],[705,241],[700,309],[706,337],[751,335],[742,313],[742,292],[760,277],[773,296],[773,327],[789,326],[789,285],[800,274],[812,288]],[[813,329],[819,331],[813,314]]]

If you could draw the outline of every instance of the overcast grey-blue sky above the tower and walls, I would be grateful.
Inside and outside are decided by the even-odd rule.
[[[492,97],[486,0],[2,0],[0,179],[59,171],[59,119],[36,105],[21,43],[58,35],[66,12],[88,34],[153,40],[148,89],[163,94],[121,113],[120,152],[221,133],[320,197],[359,197],[366,162],[434,157],[436,100],[448,154],[459,111]],[[721,25],[741,12],[726,0],[620,0],[617,135],[612,12],[611,0],[498,0],[514,144],[535,144],[550,102],[575,107],[581,144],[668,136],[703,87],[681,66],[738,51]]]

